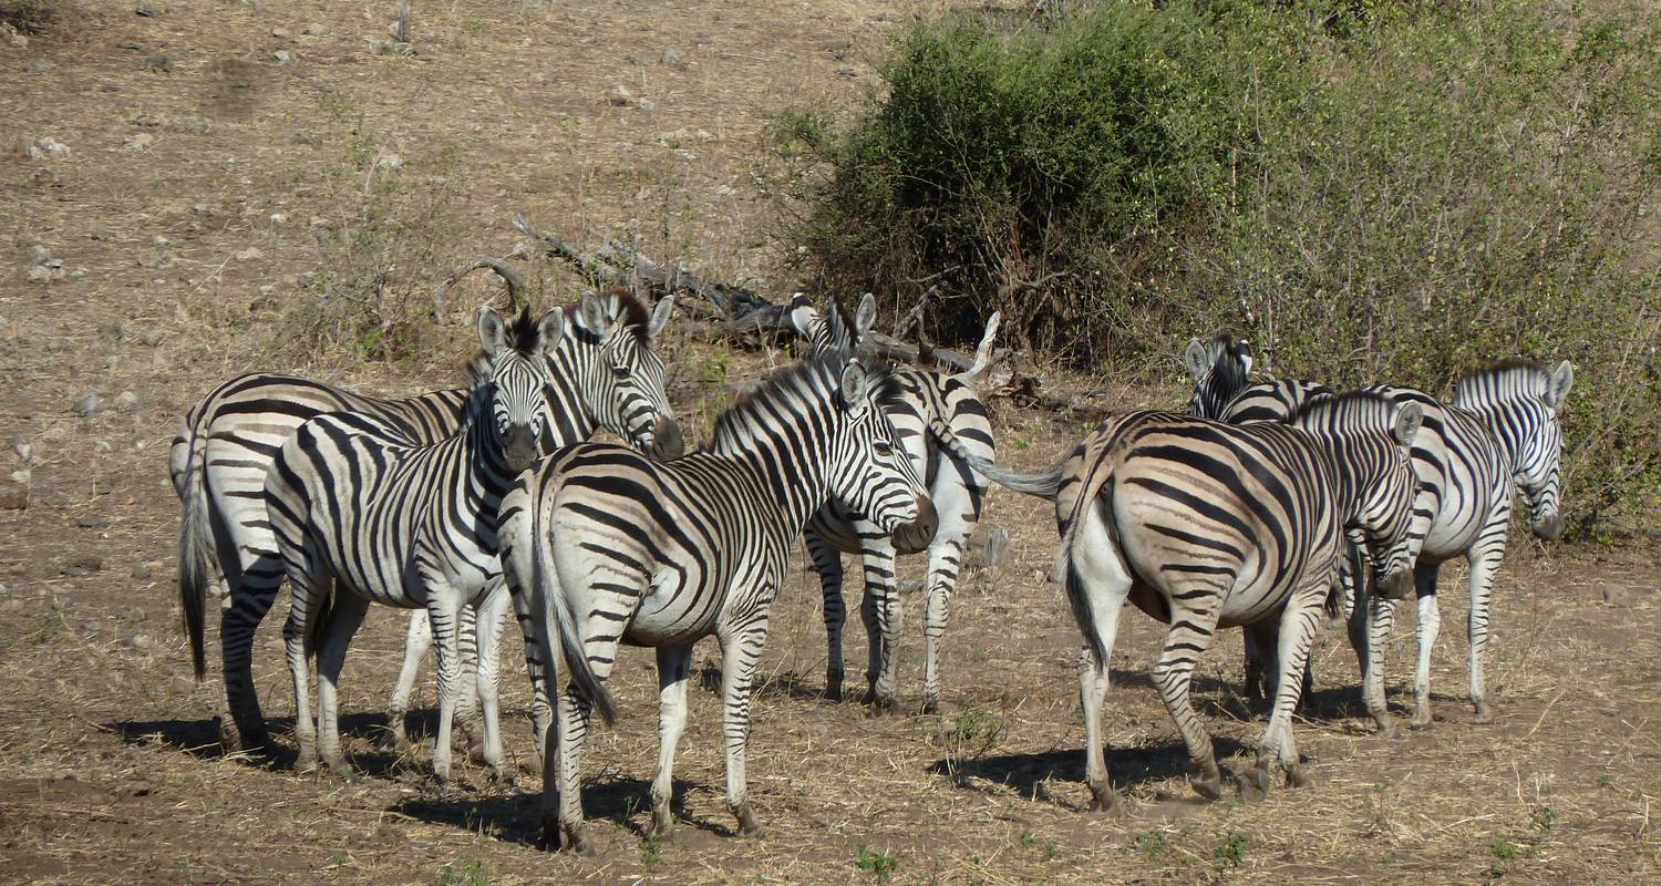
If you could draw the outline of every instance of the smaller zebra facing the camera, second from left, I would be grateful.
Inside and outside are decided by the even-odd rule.
[[[425,608],[439,647],[439,740],[432,766],[450,776],[450,721],[457,696],[455,622],[463,605],[480,618],[480,696],[485,761],[502,763],[492,663],[505,610],[495,510],[513,477],[543,450],[553,424],[545,359],[565,332],[565,311],[537,322],[523,311],[512,327],[490,306],[478,341],[490,374],[473,387],[462,429],[424,444],[402,427],[355,412],[327,412],[299,426],[266,469],[266,514],[292,588],[282,628],[294,677],[299,768],[350,770],[341,753],[336,688],[352,635],[370,602]],[[317,723],[307,663],[317,658]]]

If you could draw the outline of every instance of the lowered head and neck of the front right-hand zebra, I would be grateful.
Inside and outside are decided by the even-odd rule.
[[[1410,532],[1418,494],[1412,452],[1422,422],[1417,402],[1365,391],[1317,397],[1292,419],[1334,445],[1340,509],[1349,512],[1342,529],[1365,542],[1379,593],[1389,600],[1414,588],[1414,560],[1423,545]]]

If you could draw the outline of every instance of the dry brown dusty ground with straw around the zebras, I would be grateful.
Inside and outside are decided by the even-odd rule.
[[[857,703],[824,701],[817,583],[794,577],[754,708],[764,839],[729,834],[719,705],[706,690],[693,692],[676,770],[678,838],[641,838],[656,731],[639,650],[613,682],[620,725],[591,738],[586,758],[596,858],[535,846],[528,768],[515,785],[468,768],[437,798],[425,755],[375,745],[402,638],[390,610],[372,613],[344,680],[360,778],[221,756],[171,583],[166,444],[191,402],[244,369],[377,391],[448,384],[463,332],[364,364],[292,329],[312,329],[319,274],[377,243],[417,244],[420,254],[399,256],[400,274],[430,284],[443,263],[505,254],[522,239],[507,226],[517,211],[585,243],[633,238],[716,279],[789,291],[777,203],[789,165],[769,151],[769,115],[842,106],[872,88],[887,35],[915,7],[417,3],[415,57],[372,52],[389,38],[392,3],[65,7],[28,47],[0,42],[0,467],[30,472],[28,507],[0,509],[0,881],[1661,879],[1649,821],[1661,795],[1661,597],[1653,545],[1636,542],[1516,542],[1497,590],[1490,726],[1472,725],[1463,701],[1462,569],[1443,572],[1432,730],[1372,736],[1355,716],[1354,660],[1329,632],[1297,723],[1316,780],[1261,803],[1193,800],[1146,677],[1158,625],[1131,615],[1106,726],[1131,801],[1115,816],[1080,811],[1078,633],[1043,580],[1053,524],[1002,492],[988,524],[1012,532],[1012,550],[967,577],[953,603],[942,716],[867,720]],[[140,135],[151,136],[143,150]],[[28,158],[43,136],[70,156]],[[387,155],[399,165],[382,165]],[[382,180],[399,198],[364,199],[392,190]],[[414,233],[397,233],[399,221]],[[382,239],[355,236],[365,231]],[[60,279],[27,283],[37,244],[63,263]],[[540,298],[576,291],[563,269],[523,264]],[[465,304],[445,321],[465,329],[463,316]],[[728,379],[782,359],[681,339],[666,349],[694,427],[724,402]],[[71,412],[93,391],[100,409]],[[1120,399],[1169,404],[1176,392]],[[1030,467],[1080,432],[1008,404],[998,424],[1005,457]],[[920,564],[904,569],[917,575]],[[1605,583],[1628,592],[1621,605],[1603,602]],[[907,618],[902,687],[915,700],[920,600],[907,600]],[[286,743],[292,700],[271,622],[256,678]],[[1399,701],[1412,667],[1405,623],[1389,650]],[[854,627],[850,660],[862,642]],[[711,645],[701,660],[716,655]],[[1239,638],[1227,637],[1199,680],[1224,755],[1244,755],[1261,728],[1237,685]],[[517,675],[507,692],[510,751],[525,766],[528,692]]]

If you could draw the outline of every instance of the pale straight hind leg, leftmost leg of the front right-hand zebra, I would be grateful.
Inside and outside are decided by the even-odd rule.
[[[1131,575],[1093,507],[1080,527],[1063,564],[1066,595],[1073,602],[1085,648],[1078,660],[1078,698],[1085,711],[1085,785],[1090,808],[1108,811],[1118,795],[1108,781],[1106,751],[1101,746],[1101,701],[1108,693],[1108,667],[1113,640],[1120,630],[1120,612],[1131,592]]]

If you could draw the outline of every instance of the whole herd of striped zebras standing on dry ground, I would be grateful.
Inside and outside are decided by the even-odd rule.
[[[522,301],[510,266],[478,259],[462,271],[475,268],[493,268]],[[415,610],[389,705],[394,740],[405,740],[410,687],[435,647],[440,790],[455,726],[500,768],[500,632],[512,605],[533,687],[545,839],[590,846],[581,751],[591,716],[616,715],[608,680],[620,645],[656,650],[651,829],[666,834],[693,645],[713,635],[723,650],[726,803],[737,833],[756,834],[744,773],[751,682],[796,540],[822,582],[826,695],[835,700],[840,555],[864,560],[872,711],[897,705],[895,557],[927,552],[922,710],[937,711],[948,602],[997,482],[1055,505],[1055,573],[1085,640],[1091,805],[1116,801],[1100,716],[1126,602],[1169,625],[1153,680],[1198,770],[1194,788],[1213,800],[1222,776],[1189,701],[1191,678],[1219,628],[1246,628],[1247,692],[1271,706],[1239,786],[1261,793],[1276,765],[1291,785],[1306,780],[1291,718],[1322,612],[1350,613],[1367,710],[1394,733],[1380,647],[1395,603],[1417,592],[1414,723],[1428,723],[1437,570],[1465,554],[1470,696],[1485,721],[1482,653],[1512,497],[1521,494],[1541,539],[1563,530],[1556,411],[1573,382],[1568,362],[1550,372],[1502,362],[1462,379],[1443,404],[1400,387],[1334,394],[1307,381],[1252,381],[1247,342],[1196,339],[1183,354],[1194,381],[1186,414],[1110,416],[1055,467],[1015,474],[995,464],[983,404],[997,314],[972,366],[950,374],[879,359],[870,296],[852,317],[797,296],[786,316],[804,356],[726,409],[704,447],[684,452],[656,352],[671,313],[673,298],[648,309],[621,291],[540,317],[482,308],[482,351],[465,389],[384,401],[247,374],[191,409],[169,454],[183,505],[179,598],[198,678],[208,610],[219,603],[221,743],[269,745],[251,655],[286,578],[299,768],[349,771],[336,698],[370,602]],[[626,444],[590,441],[601,427]]]

